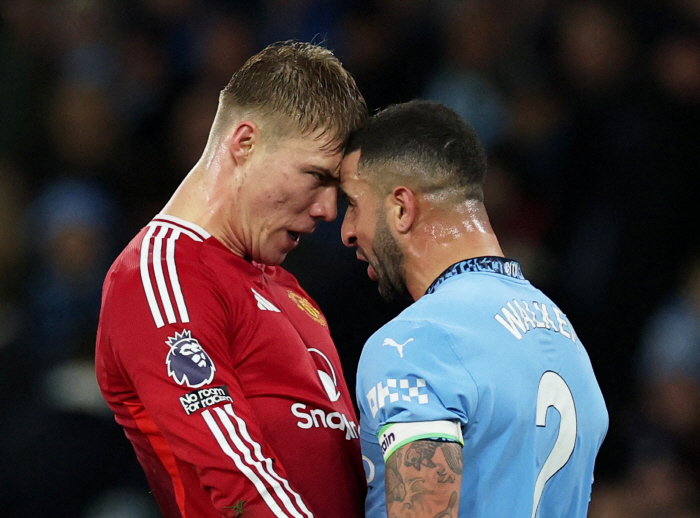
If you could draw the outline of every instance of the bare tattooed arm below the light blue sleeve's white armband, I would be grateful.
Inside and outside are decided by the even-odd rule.
[[[414,441],[387,459],[390,518],[456,518],[462,483],[462,448],[457,443]]]

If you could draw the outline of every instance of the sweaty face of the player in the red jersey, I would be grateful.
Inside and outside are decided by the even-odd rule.
[[[315,136],[259,146],[239,173],[231,225],[242,255],[278,265],[301,234],[335,219],[342,153]]]

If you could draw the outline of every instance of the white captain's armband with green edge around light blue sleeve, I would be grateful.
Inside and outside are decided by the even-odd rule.
[[[428,439],[433,441],[456,442],[464,446],[462,427],[459,421],[421,421],[417,423],[389,423],[377,435],[382,447],[384,462],[404,444]]]

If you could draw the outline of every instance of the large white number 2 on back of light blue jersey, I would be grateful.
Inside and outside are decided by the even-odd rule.
[[[535,482],[532,518],[535,518],[537,514],[537,507],[540,505],[545,484],[569,461],[576,444],[577,423],[574,396],[562,377],[553,371],[547,371],[542,375],[540,386],[537,389],[537,417],[535,421],[537,426],[547,426],[547,410],[550,406],[556,408],[561,416],[559,435],[557,435],[554,447],[549,452],[547,460],[537,476],[537,482]]]

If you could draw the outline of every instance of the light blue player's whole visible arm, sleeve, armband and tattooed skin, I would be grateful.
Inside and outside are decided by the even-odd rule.
[[[368,341],[358,373],[362,426],[384,456],[389,518],[457,516],[462,426],[477,391],[452,337],[430,323],[394,321]]]

